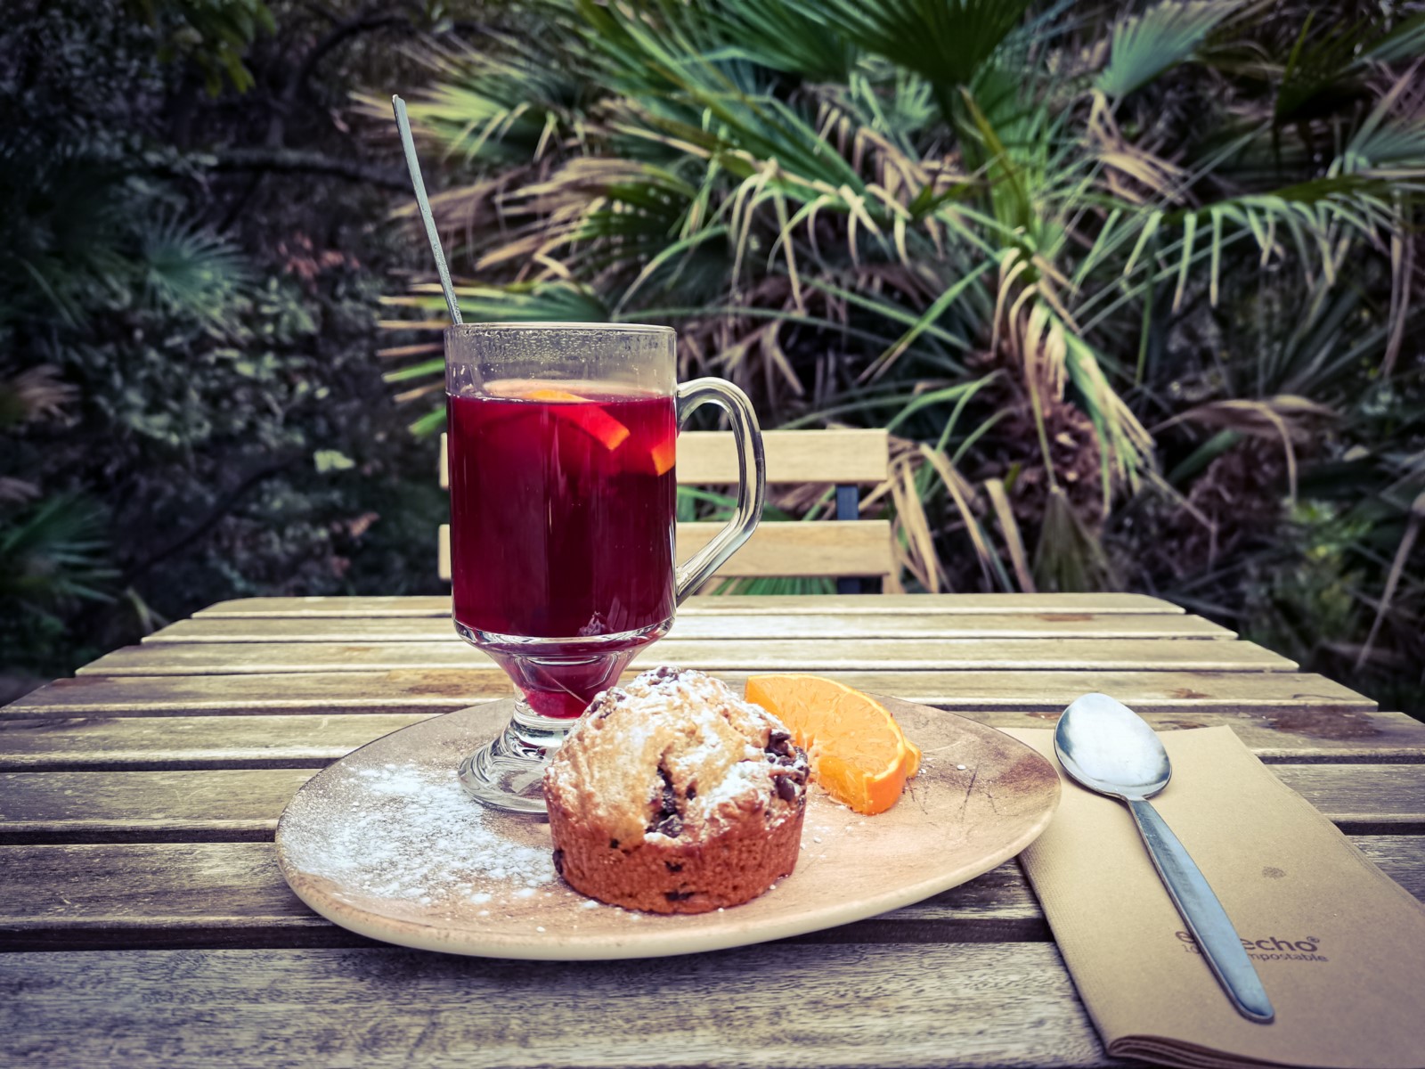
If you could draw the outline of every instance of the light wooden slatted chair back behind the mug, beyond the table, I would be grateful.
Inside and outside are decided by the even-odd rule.
[[[889,439],[885,430],[764,430],[767,485],[828,483],[836,487],[836,519],[764,520],[718,572],[717,579],[762,576],[831,577],[838,593],[859,593],[864,579],[885,583],[893,567],[889,520],[858,519],[858,486],[885,482]],[[449,489],[445,436],[440,486]],[[725,430],[678,435],[680,486],[737,483],[737,448]],[[705,546],[721,523],[680,523],[678,556]],[[440,526],[440,577],[450,579],[450,529]]]

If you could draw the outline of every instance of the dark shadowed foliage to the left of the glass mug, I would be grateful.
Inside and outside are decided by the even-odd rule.
[[[375,355],[379,279],[406,257],[380,225],[393,200],[261,158],[286,167],[285,131],[304,158],[346,151],[348,78],[393,70],[363,34],[400,20],[255,0],[7,16],[0,701],[6,677],[225,597],[437,590],[432,449]],[[225,170],[231,145],[258,161]]]

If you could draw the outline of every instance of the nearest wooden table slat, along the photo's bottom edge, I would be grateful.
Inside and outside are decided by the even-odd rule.
[[[396,948],[10,954],[0,992],[0,1052],[28,1066],[1124,1065],[1043,942],[597,968]]]

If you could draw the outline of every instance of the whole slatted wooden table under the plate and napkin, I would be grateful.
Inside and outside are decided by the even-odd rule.
[[[644,656],[832,676],[995,725],[1089,690],[1231,725],[1425,898],[1425,725],[1129,594],[704,597]],[[0,710],[0,1062],[1110,1065],[1015,862],[896,912],[684,958],[365,941],[286,888],[314,770],[504,697],[443,599],[228,601]]]

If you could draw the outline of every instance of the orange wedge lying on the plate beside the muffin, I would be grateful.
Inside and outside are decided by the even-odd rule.
[[[812,780],[856,812],[885,812],[921,768],[891,710],[818,676],[752,676],[747,700],[779,718],[807,751]]]

